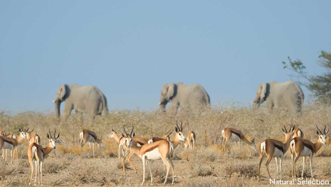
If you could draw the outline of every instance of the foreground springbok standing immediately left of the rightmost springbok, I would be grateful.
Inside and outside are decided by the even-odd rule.
[[[285,143],[278,141],[278,140],[274,140],[274,139],[266,139],[266,140],[262,141],[260,144],[260,163],[259,163],[259,173],[258,173],[259,181],[258,181],[258,183],[260,183],[260,167],[261,167],[261,163],[262,163],[265,155],[267,155],[267,162],[265,163],[265,168],[267,169],[270,179],[271,179],[271,176],[269,173],[269,163],[272,158],[276,159],[277,180],[279,179],[278,157],[280,158],[280,179],[283,180],[283,173],[282,173],[283,157],[290,145],[290,141],[291,141],[293,130],[295,129],[295,125],[292,126],[292,124],[291,124],[289,131],[286,130],[285,125],[284,125],[284,129],[283,129],[283,127],[281,127],[281,129],[285,134]]]

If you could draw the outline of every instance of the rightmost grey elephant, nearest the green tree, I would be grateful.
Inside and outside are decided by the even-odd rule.
[[[252,103],[254,103],[254,107],[259,107],[261,103],[266,101],[266,106],[269,110],[275,107],[294,109],[300,112],[304,98],[304,93],[297,83],[293,81],[287,81],[285,83],[272,81],[259,85],[256,91],[256,97]]]

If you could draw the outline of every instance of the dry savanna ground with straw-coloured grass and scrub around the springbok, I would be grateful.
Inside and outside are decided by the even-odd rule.
[[[0,115],[0,130],[18,134],[18,128],[35,129],[41,138],[41,144],[46,146],[48,129],[60,132],[57,148],[46,158],[43,167],[45,186],[139,186],[142,182],[142,161],[134,155],[132,162],[137,168],[135,173],[126,163],[127,174],[121,169],[118,160],[118,145],[113,138],[108,138],[111,129],[122,132],[123,125],[130,129],[134,125],[136,136],[150,138],[162,136],[167,130],[175,130],[176,119],[183,122],[185,135],[189,131],[196,132],[196,150],[184,149],[180,143],[174,150],[173,163],[175,166],[176,186],[256,186],[259,153],[247,145],[238,149],[234,143],[229,143],[226,152],[222,153],[221,130],[231,127],[242,131],[247,139],[255,137],[257,149],[266,138],[284,141],[285,137],[280,125],[299,124],[304,131],[304,138],[316,142],[315,125],[324,127],[330,124],[331,109],[318,104],[305,106],[301,114],[289,111],[268,112],[263,109],[217,106],[196,113],[179,112],[176,116],[168,113],[139,111],[112,111],[107,116],[98,117],[94,123],[89,123],[84,116],[81,124],[79,118],[71,116],[67,122],[58,123],[54,114],[24,112],[12,114],[3,112]],[[91,158],[88,145],[79,145],[79,132],[83,129],[95,131],[103,135],[100,149],[96,149],[96,158]],[[33,132],[33,133],[34,133]],[[174,133],[173,133],[174,134]],[[171,134],[171,139],[173,138]],[[329,134],[328,134],[329,135]],[[0,186],[26,186],[29,183],[31,168],[27,160],[27,140],[18,146],[19,159],[12,166],[10,161],[0,159]],[[313,172],[315,178],[331,180],[331,142],[313,157]],[[9,156],[9,154],[8,154]],[[10,157],[10,156],[9,156]],[[308,159],[307,159],[308,160]],[[261,165],[261,185],[270,186],[264,167]],[[276,177],[276,166],[273,159],[269,164],[272,177]],[[302,158],[297,162],[297,173],[301,176]],[[165,172],[162,161],[155,161],[152,166],[155,186],[163,185]],[[309,161],[305,166],[305,174],[310,177]],[[166,186],[171,185],[171,169]],[[283,178],[292,177],[290,154],[287,152],[283,161]],[[34,180],[34,176],[33,176]],[[32,185],[34,181],[32,182]],[[150,185],[149,169],[146,168],[144,186]]]

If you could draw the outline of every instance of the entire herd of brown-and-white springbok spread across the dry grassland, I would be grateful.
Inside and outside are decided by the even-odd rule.
[[[143,163],[143,181],[142,185],[145,181],[145,162],[148,161],[149,170],[151,175],[151,185],[153,185],[153,178],[152,178],[152,161],[162,159],[164,165],[166,166],[166,178],[164,181],[164,185],[166,184],[169,169],[172,169],[172,184],[174,182],[174,165],[172,163],[172,154],[173,150],[179,145],[180,141],[184,141],[185,148],[189,147],[190,149],[194,149],[195,147],[195,140],[196,135],[193,131],[190,131],[187,137],[185,137],[183,133],[183,123],[181,123],[180,127],[176,122],[176,134],[172,141],[170,141],[169,135],[172,132],[166,132],[161,138],[159,137],[152,137],[150,139],[145,139],[141,137],[135,137],[134,127],[132,126],[132,130],[130,133],[127,133],[125,130],[125,126],[123,126],[123,132],[121,135],[118,135],[116,131],[112,129],[111,134],[109,135],[110,138],[114,138],[118,143],[118,158],[122,161],[123,172],[125,172],[124,167],[124,159],[126,158],[127,161],[130,163],[132,168],[135,172],[137,172],[136,168],[130,161],[130,158],[133,154],[136,154],[142,159]],[[303,179],[304,174],[304,165],[306,161],[306,157],[309,157],[310,161],[310,171],[311,177],[314,180],[313,172],[312,172],[312,156],[315,154],[323,144],[326,144],[326,134],[329,132],[329,128],[326,130],[326,125],[324,125],[324,130],[321,131],[316,125],[316,133],[318,134],[318,140],[316,143],[312,143],[309,140],[303,139],[304,133],[302,130],[297,128],[298,125],[290,125],[289,131],[287,131],[285,125],[284,128],[281,127],[281,130],[285,134],[285,143],[275,140],[275,139],[265,139],[260,143],[260,162],[259,162],[259,173],[258,173],[258,183],[260,183],[260,166],[265,156],[267,156],[267,161],[265,163],[265,167],[269,178],[271,179],[268,165],[272,158],[275,158],[276,165],[277,165],[277,180],[279,180],[279,172],[278,172],[278,161],[280,160],[280,180],[283,179],[282,175],[282,162],[284,158],[284,154],[289,149],[291,154],[291,164],[292,164],[292,178],[296,180],[296,173],[295,173],[295,166],[296,162],[298,161],[299,157],[303,157],[303,171],[301,178]],[[44,163],[45,156],[49,154],[53,149],[56,148],[56,140],[59,138],[60,133],[56,135],[56,130],[52,135],[50,130],[47,133],[47,138],[49,143],[46,147],[42,147],[40,145],[40,136],[34,134],[31,136],[31,132],[28,129],[22,130],[19,128],[20,135],[15,136],[14,134],[6,134],[3,131],[0,131],[0,149],[3,149],[2,159],[4,159],[4,149],[10,149],[11,153],[11,162],[13,164],[14,161],[14,149],[22,142],[25,138],[29,142],[29,147],[27,149],[28,160],[31,166],[31,177],[30,183],[32,181],[33,176],[33,163],[35,162],[35,179],[34,185],[36,185],[37,180],[37,173],[38,173],[38,185],[43,185],[42,180],[42,166]],[[252,147],[252,149],[256,150],[255,139],[253,138],[251,141],[247,140],[244,134],[235,129],[225,128],[222,130],[222,148],[223,152],[225,150],[225,145],[228,141],[236,141],[238,147],[240,146],[240,142],[244,141],[247,145]],[[89,143],[89,147],[91,149],[92,143],[92,150],[93,150],[93,157],[94,157],[94,146],[95,143],[100,147],[102,136],[99,138],[95,132],[89,130],[83,130],[79,133],[80,138],[80,145],[84,146],[87,142]],[[120,154],[122,152],[122,154]],[[7,153],[7,152],[6,152]],[[122,156],[121,156],[122,155]],[[7,157],[7,154],[6,154]],[[16,157],[18,158],[17,149],[16,149]],[[280,158],[280,159],[279,159]],[[7,158],[6,158],[7,159]],[[279,159],[279,160],[278,160]]]

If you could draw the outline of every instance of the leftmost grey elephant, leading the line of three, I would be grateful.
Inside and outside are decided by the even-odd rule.
[[[106,96],[95,86],[61,85],[52,101],[55,103],[57,117],[60,117],[60,105],[63,101],[65,120],[70,116],[71,110],[76,110],[76,115],[87,113],[92,121],[96,115],[108,113]]]

